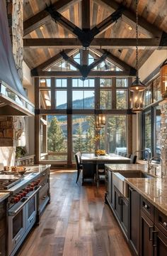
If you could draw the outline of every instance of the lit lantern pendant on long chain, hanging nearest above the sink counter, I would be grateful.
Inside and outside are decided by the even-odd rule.
[[[143,110],[143,98],[145,85],[139,80],[138,70],[138,13],[137,13],[138,0],[136,0],[136,78],[132,85],[129,87],[130,90],[130,105],[132,112],[141,112]]]

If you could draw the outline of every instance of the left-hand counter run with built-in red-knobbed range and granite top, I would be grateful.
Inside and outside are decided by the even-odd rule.
[[[1,174],[0,181],[0,225],[8,227],[8,232],[0,233],[0,252],[13,256],[50,202],[50,165],[27,166],[23,176],[8,174]]]

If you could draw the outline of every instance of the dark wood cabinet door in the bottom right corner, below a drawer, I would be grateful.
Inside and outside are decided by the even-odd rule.
[[[153,233],[154,256],[167,255],[167,237],[155,226]]]

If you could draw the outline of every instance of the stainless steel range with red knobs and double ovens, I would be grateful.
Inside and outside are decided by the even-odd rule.
[[[9,192],[8,197],[8,255],[15,255],[18,247],[35,224],[38,209],[38,191],[41,186],[37,174],[23,178],[0,175],[0,191]]]

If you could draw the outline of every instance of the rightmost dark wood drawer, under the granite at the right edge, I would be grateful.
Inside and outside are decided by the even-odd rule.
[[[167,216],[155,209],[155,223],[156,226],[167,236]]]

